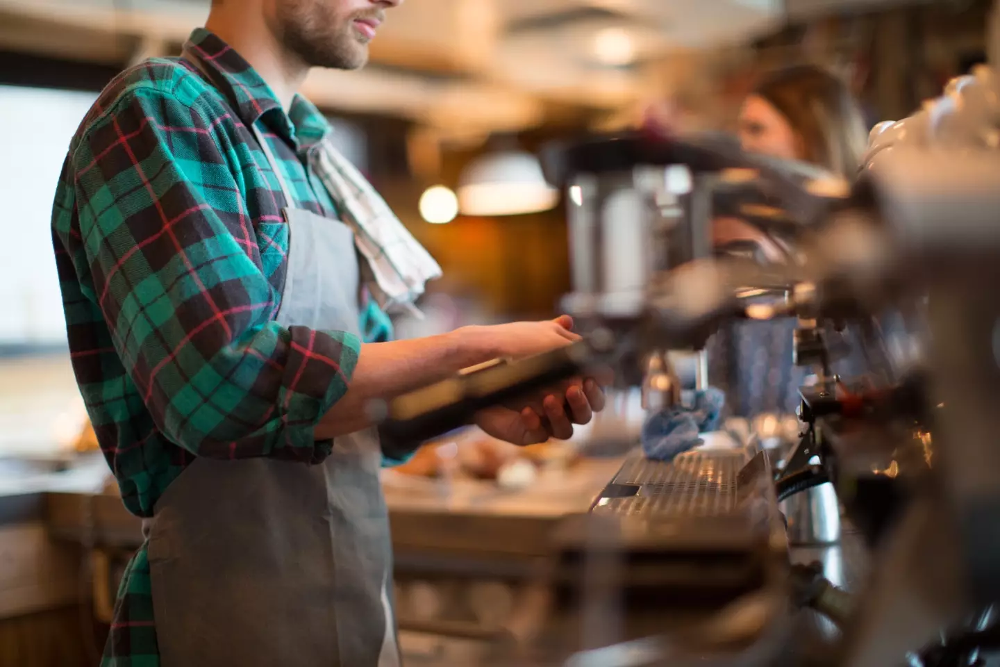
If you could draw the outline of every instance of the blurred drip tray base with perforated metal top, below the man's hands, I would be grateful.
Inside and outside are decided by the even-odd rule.
[[[579,642],[582,610],[606,607],[625,640],[639,639],[693,627],[746,595],[784,595],[780,517],[763,451],[633,455],[557,531],[550,625]]]

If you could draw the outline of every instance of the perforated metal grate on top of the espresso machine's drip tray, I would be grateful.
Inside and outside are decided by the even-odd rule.
[[[718,516],[730,513],[737,500],[737,475],[747,462],[743,451],[690,452],[672,463],[629,459],[614,483],[637,486],[626,498],[598,502],[598,514],[645,516]]]

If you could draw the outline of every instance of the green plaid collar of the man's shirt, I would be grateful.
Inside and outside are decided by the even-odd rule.
[[[272,130],[303,149],[319,143],[332,131],[323,114],[301,95],[295,96],[286,114],[274,91],[250,63],[205,28],[191,33],[185,51],[198,59],[200,68],[248,127],[267,116],[265,122]]]

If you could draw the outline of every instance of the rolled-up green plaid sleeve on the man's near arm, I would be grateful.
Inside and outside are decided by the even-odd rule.
[[[170,440],[212,458],[318,461],[349,333],[283,328],[224,141],[197,107],[125,93],[76,148],[80,261],[115,352]]]

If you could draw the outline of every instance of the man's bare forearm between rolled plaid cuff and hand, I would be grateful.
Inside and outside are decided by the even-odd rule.
[[[496,358],[488,336],[466,327],[440,336],[361,346],[347,393],[316,425],[317,440],[371,426],[368,402],[388,399]]]

